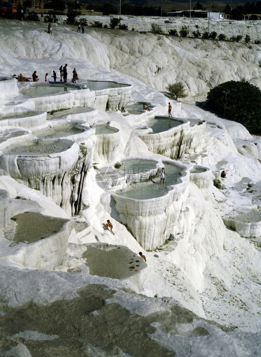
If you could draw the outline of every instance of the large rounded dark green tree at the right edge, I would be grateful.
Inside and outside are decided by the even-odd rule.
[[[229,81],[216,86],[207,94],[206,105],[220,115],[225,105],[229,119],[244,125],[251,134],[261,135],[261,91],[249,82]]]

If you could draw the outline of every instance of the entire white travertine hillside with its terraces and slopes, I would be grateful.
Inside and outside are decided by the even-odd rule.
[[[164,25],[164,19],[137,20],[140,19],[124,17],[123,21],[134,24],[137,30],[141,27],[150,29],[151,21],[158,21],[164,26],[166,34],[170,28],[179,29],[182,25],[193,30],[197,24],[203,29],[206,21],[175,19],[172,24]],[[109,17],[102,17],[102,21],[109,21]],[[14,25],[10,26],[10,23]],[[250,48],[244,43],[87,27],[87,33],[82,35],[72,31],[74,27],[60,25],[54,26],[50,36],[44,32],[45,25],[41,23],[37,26],[20,21],[3,24],[0,28],[4,39],[0,43],[0,62],[5,76],[20,73],[21,68],[24,75],[30,76],[33,68],[42,81],[42,75],[53,69],[49,69],[50,65],[46,63],[46,53],[52,53],[54,69],[59,68],[61,61],[70,64],[69,72],[72,67],[77,67],[79,83],[95,79],[132,86],[131,93],[122,92],[121,99],[119,93],[122,89],[112,89],[110,108],[107,89],[101,95],[97,95],[96,91],[74,90],[71,94],[41,97],[37,105],[44,110],[62,109],[46,117],[45,113],[36,111],[35,117],[31,113],[36,109],[36,100],[17,99],[14,94],[1,98],[0,122],[7,120],[6,124],[12,127],[3,124],[0,131],[0,170],[1,174],[15,177],[0,177],[0,190],[8,192],[4,193],[5,198],[0,194],[0,203],[4,200],[7,204],[10,200],[11,205],[10,216],[8,204],[4,209],[0,205],[0,213],[4,217],[0,221],[0,225],[4,226],[0,230],[0,297],[3,302],[0,329],[7,345],[12,348],[11,353],[17,355],[22,348],[28,356],[42,352],[38,341],[44,339],[45,348],[48,353],[50,348],[50,354],[53,354],[52,346],[63,348],[60,338],[65,338],[74,350],[75,340],[71,341],[74,331],[70,330],[70,326],[76,326],[80,335],[79,345],[84,345],[87,349],[84,353],[90,356],[135,356],[139,336],[142,338],[138,345],[144,346],[144,341],[148,341],[145,353],[152,357],[165,357],[168,353],[182,355],[184,351],[194,357],[216,357],[224,354],[224,346],[231,356],[245,357],[253,351],[260,355],[261,253],[258,242],[261,240],[257,212],[261,192],[261,140],[252,137],[240,124],[216,117],[194,105],[170,100],[157,91],[165,91],[168,82],[182,80],[189,94],[184,101],[193,103],[205,100],[206,91],[220,81],[244,77],[260,85],[259,46],[251,44]],[[254,29],[258,33],[256,25],[252,22],[248,24],[251,36]],[[231,26],[229,22],[211,20],[211,26],[217,26],[227,35],[247,29],[243,21],[233,22]],[[34,41],[36,36],[38,41]],[[19,89],[22,88],[23,85],[19,85]],[[194,94],[197,97],[192,98]],[[130,105],[146,103],[151,112],[135,107],[128,110],[128,106],[126,111],[121,112],[128,95]],[[157,154],[161,149],[159,142],[164,147],[164,155],[167,152],[171,154],[168,140],[172,143],[173,135],[167,137],[165,132],[157,134],[159,142],[155,147],[150,139],[151,151],[139,137],[151,136],[148,134],[148,122],[155,115],[166,116],[169,101],[172,115],[185,122],[182,124],[185,126],[183,134],[177,134],[181,142],[171,144],[173,157],[180,158],[177,162]],[[105,112],[106,106],[111,110]],[[90,110],[90,107],[95,109]],[[42,116],[39,121],[38,116]],[[30,117],[34,118],[32,122]],[[12,122],[8,122],[9,119]],[[118,130],[116,134],[119,137],[114,141],[114,134],[107,134],[108,153],[99,149],[94,170],[90,165],[94,161],[92,150],[95,137],[92,129],[95,129],[96,122],[110,123]],[[92,129],[87,129],[87,125]],[[79,132],[76,132],[78,129]],[[60,134],[51,139],[54,132]],[[61,143],[69,139],[70,147],[60,151]],[[56,143],[52,147],[54,152],[45,150],[50,141]],[[37,155],[6,151],[8,148],[28,147],[32,142],[45,142]],[[84,146],[79,150],[82,142]],[[117,156],[109,157],[109,152],[116,146]],[[98,155],[97,148],[95,152]],[[168,185],[169,178],[166,177],[165,185],[169,186],[166,193],[145,199],[139,197],[140,187],[135,186],[137,182],[133,181],[148,178],[149,170],[144,176],[130,175],[124,182],[120,170],[114,170],[115,162],[109,161],[124,162],[134,158],[156,160],[159,167],[167,166],[168,162],[180,165],[186,174],[182,174],[172,185]],[[112,173],[108,168],[112,169]],[[227,178],[221,180],[222,170],[226,171]],[[64,172],[65,180],[59,183],[60,172]],[[223,190],[212,185],[214,177],[222,181]],[[28,178],[34,188],[29,185]],[[105,181],[110,178],[113,178],[112,184],[107,186]],[[160,178],[156,175],[150,176],[150,179],[154,182],[145,181],[145,185],[151,184],[152,190],[156,191]],[[153,188],[154,184],[157,187]],[[112,185],[116,187],[112,188]],[[139,182],[139,185],[144,185],[144,182]],[[74,230],[69,221],[61,230],[46,237],[40,236],[36,242],[9,240],[14,238],[11,235],[19,233],[19,215],[26,212],[39,213],[50,220],[57,217],[59,221],[70,220],[71,214],[77,214],[74,221],[85,224],[79,228],[75,223]],[[10,220],[10,217],[17,220]],[[32,217],[27,220],[29,223],[35,222]],[[115,235],[104,229],[108,219],[112,222]],[[239,233],[227,229],[225,220]],[[26,219],[21,221],[26,222]],[[46,223],[46,229],[50,227],[51,223]],[[25,229],[21,231],[25,232]],[[244,235],[251,236],[251,239],[245,239]],[[256,238],[253,238],[254,235]],[[107,245],[109,250],[112,245],[116,247],[113,250],[119,252],[121,247],[127,247],[133,252],[134,261],[126,264],[135,262],[134,268],[139,265],[141,258],[137,253],[141,251],[146,256],[147,267],[127,279],[91,275],[82,254],[86,245],[93,243]],[[106,249],[102,253],[109,258]],[[100,262],[95,263],[99,265]],[[112,260],[106,268],[113,267],[113,263]],[[48,269],[54,270],[48,272]],[[137,293],[125,292],[130,288]],[[26,306],[30,310],[34,303],[34,311],[26,310],[34,329],[28,331],[26,319],[20,319],[20,314],[9,310],[9,307],[20,308],[24,305],[22,310]],[[49,310],[52,303],[55,309]],[[74,311],[77,311],[77,316]],[[40,334],[43,325],[40,326],[35,318],[43,316],[42,313],[47,321],[48,336]],[[60,316],[65,315],[67,320],[61,320]],[[79,316],[86,324],[79,323],[78,326]],[[122,316],[125,318],[122,319]],[[134,324],[131,321],[131,326],[137,327],[135,335],[130,334],[129,327],[125,328],[125,321],[129,326],[129,316],[137,319]],[[12,321],[15,321],[15,326]],[[57,330],[58,322],[66,326],[62,332]],[[226,332],[215,323],[233,330]],[[94,326],[102,326],[103,330],[97,331]],[[107,326],[110,326],[108,334],[104,332]],[[146,330],[147,326],[149,330]],[[84,331],[88,331],[87,335]],[[95,343],[90,337],[92,331],[95,331]],[[111,350],[108,347],[111,346],[111,333],[118,336],[119,331],[119,341],[113,340],[117,348]],[[27,348],[29,344],[25,346],[21,337],[34,340],[37,351]],[[52,346],[49,345],[51,338]],[[133,349],[130,346],[134,346]],[[167,350],[162,350],[162,346],[167,346]]]

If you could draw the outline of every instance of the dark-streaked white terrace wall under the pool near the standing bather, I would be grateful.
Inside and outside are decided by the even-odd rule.
[[[140,134],[139,137],[151,152],[180,159],[183,154],[193,152],[200,145],[206,124],[190,127],[186,119],[173,119],[180,121],[180,125],[156,134]]]

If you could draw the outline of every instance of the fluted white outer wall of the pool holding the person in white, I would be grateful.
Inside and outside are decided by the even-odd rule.
[[[168,186],[163,196],[136,200],[111,193],[121,223],[128,226],[145,250],[153,250],[165,242],[186,204],[189,173],[184,166],[176,162],[173,165],[180,167],[182,176],[177,178],[175,185]]]

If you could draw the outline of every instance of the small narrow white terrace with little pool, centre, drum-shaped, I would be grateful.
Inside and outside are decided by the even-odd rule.
[[[115,162],[118,160],[118,147],[120,145],[120,130],[110,126],[109,123],[97,124],[96,130],[104,127],[106,134],[96,134],[94,160],[101,162]]]

